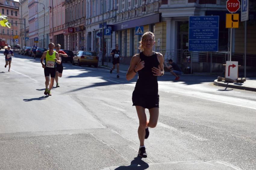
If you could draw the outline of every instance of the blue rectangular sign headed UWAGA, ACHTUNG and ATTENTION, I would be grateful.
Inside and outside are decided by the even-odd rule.
[[[218,51],[219,16],[189,17],[189,51]]]

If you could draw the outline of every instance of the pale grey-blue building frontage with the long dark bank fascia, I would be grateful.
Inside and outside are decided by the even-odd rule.
[[[157,0],[87,0],[86,1],[86,50],[99,53],[101,37],[98,33],[111,28],[111,35],[105,36],[104,53],[109,56],[115,44],[119,44],[121,56],[133,56],[138,53],[138,42],[142,35],[136,35],[135,27],[143,27],[144,32],[155,33],[155,39],[161,43],[154,50],[165,48],[166,23],[161,22]],[[104,24],[102,24],[102,11]]]

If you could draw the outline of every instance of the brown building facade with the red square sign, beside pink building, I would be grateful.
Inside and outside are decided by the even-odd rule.
[[[86,0],[65,0],[65,48],[77,53],[85,49]]]

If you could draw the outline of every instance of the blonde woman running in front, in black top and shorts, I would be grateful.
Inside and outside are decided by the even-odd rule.
[[[139,41],[139,54],[131,59],[130,67],[126,74],[129,81],[138,72],[138,80],[133,91],[133,106],[139,117],[138,135],[140,141],[138,156],[147,157],[144,139],[148,138],[148,127],[154,128],[158,121],[159,95],[157,76],[164,75],[164,57],[161,53],[153,51],[155,36],[152,32],[146,32]],[[148,109],[150,118],[147,120],[145,108]]]

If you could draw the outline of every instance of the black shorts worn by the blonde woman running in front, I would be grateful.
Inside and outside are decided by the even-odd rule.
[[[159,108],[159,95],[147,95],[133,93],[133,106],[141,106],[146,109]]]

